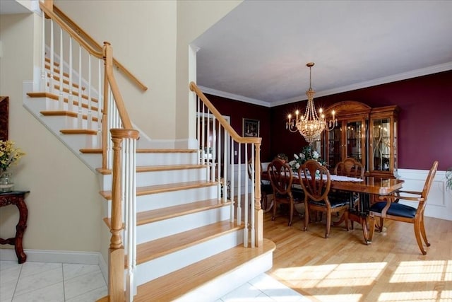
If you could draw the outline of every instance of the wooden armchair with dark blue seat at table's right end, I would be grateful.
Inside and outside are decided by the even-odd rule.
[[[425,180],[424,189],[422,192],[415,191],[403,191],[400,190],[395,194],[381,196],[380,199],[386,199],[384,202],[376,202],[369,209],[369,240],[371,241],[374,236],[375,231],[375,217],[380,217],[379,231],[383,230],[384,219],[391,219],[394,221],[403,221],[408,223],[413,223],[415,227],[415,237],[417,240],[417,245],[422,252],[422,255],[427,254],[427,250],[424,249],[422,239],[427,246],[430,246],[427,240],[427,233],[425,232],[424,226],[424,210],[427,204],[427,197],[429,195],[430,187],[432,187],[432,182],[438,169],[438,161],[434,161],[432,168],[427,175]],[[411,196],[406,196],[403,194],[410,194]],[[415,196],[413,196],[415,195]],[[406,204],[400,204],[395,202],[396,200],[407,200],[410,202],[417,202],[417,207],[411,207]],[[422,239],[421,239],[422,236]]]

